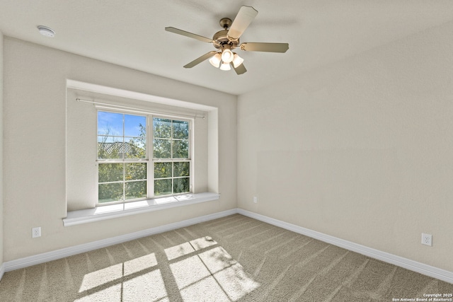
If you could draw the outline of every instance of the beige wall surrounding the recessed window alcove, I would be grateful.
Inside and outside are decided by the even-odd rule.
[[[236,208],[236,96],[10,37],[4,72],[4,261]],[[220,199],[64,227],[67,79],[219,108]]]

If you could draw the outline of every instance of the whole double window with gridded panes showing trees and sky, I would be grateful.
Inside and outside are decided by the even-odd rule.
[[[190,192],[190,120],[98,111],[97,135],[98,204]]]

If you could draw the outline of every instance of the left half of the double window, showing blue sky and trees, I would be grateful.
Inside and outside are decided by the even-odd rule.
[[[147,197],[147,117],[98,112],[98,202]]]

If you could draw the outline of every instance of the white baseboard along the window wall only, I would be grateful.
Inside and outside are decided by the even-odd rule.
[[[224,216],[229,216],[229,215],[236,214],[236,213],[237,213],[237,209],[231,209],[228,211],[222,211],[222,212],[218,212],[218,213],[214,213],[214,214],[210,214],[210,215],[200,216],[200,217],[196,217],[193,219],[178,221],[175,223],[169,223],[164,226],[148,228],[147,230],[138,231],[138,232],[122,235],[122,236],[116,236],[113,238],[98,240],[98,241],[94,241],[91,243],[84,243],[81,245],[74,245],[69,248],[62,248],[61,250],[44,252],[42,254],[33,255],[30,257],[7,261],[7,262],[4,262],[4,265],[2,265],[2,267],[1,267],[2,270],[0,270],[0,273],[1,272],[11,272],[14,269],[21,269],[24,267],[29,267],[31,265],[39,265],[40,263],[57,260],[57,259],[61,259],[64,257],[69,257],[72,255],[79,254],[81,252],[89,252],[91,250],[97,250],[98,248],[105,248],[110,245],[124,243],[129,240],[134,240],[134,239],[154,235],[157,233],[171,231],[176,228],[183,228],[185,226],[191,226],[196,223],[200,223],[203,221],[210,221],[212,219],[218,219],[218,218],[222,218]],[[0,274],[0,276],[1,276],[1,274]],[[1,279],[1,277],[0,277],[0,279]]]

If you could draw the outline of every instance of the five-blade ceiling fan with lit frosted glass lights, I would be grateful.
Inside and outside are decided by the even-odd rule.
[[[251,6],[241,6],[234,21],[231,21],[230,18],[222,18],[220,20],[219,23],[223,30],[215,33],[212,39],[196,35],[195,33],[189,33],[178,28],[168,27],[165,28],[165,30],[171,33],[177,33],[178,35],[192,37],[193,39],[202,42],[212,43],[212,45],[217,48],[217,50],[203,54],[189,64],[184,65],[185,68],[192,68],[206,59],[210,59],[210,63],[216,68],[231,70],[232,66],[234,71],[236,71],[236,74],[243,74],[247,71],[246,67],[243,66],[243,59],[239,57],[238,54],[231,51],[236,47],[239,47],[240,50],[246,52],[286,52],[289,48],[288,43],[245,42],[239,44],[239,37],[241,37],[257,14],[258,11],[256,11],[255,8]]]

